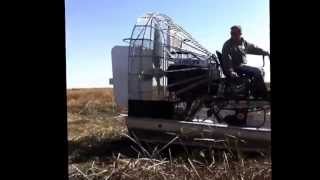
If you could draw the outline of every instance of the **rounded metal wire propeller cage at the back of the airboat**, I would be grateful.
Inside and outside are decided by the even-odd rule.
[[[168,97],[168,66],[184,59],[207,63],[212,53],[164,14],[147,13],[133,27],[128,54],[129,99]]]

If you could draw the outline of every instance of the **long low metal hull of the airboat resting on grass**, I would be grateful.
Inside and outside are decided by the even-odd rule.
[[[270,128],[234,127],[207,122],[187,122],[155,118],[128,117],[127,126],[144,142],[168,143],[215,148],[265,151],[271,146]]]

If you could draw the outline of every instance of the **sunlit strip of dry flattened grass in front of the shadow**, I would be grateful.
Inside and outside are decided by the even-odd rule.
[[[191,165],[192,164],[192,165]],[[194,168],[192,168],[194,166]],[[271,179],[271,163],[244,161],[204,164],[149,158],[113,157],[107,162],[92,161],[71,165],[69,179]]]

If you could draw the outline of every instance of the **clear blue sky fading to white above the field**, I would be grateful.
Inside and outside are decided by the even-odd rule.
[[[209,51],[220,50],[230,27],[269,51],[268,0],[66,0],[67,88],[106,87],[112,77],[111,49],[126,45],[136,19],[146,12],[170,16]],[[260,66],[261,57],[248,56]],[[269,61],[266,61],[269,81]]]

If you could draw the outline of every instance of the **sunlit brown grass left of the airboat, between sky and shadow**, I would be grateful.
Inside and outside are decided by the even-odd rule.
[[[117,113],[112,88],[70,89],[67,91],[68,139],[113,139],[125,125]]]

